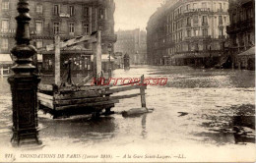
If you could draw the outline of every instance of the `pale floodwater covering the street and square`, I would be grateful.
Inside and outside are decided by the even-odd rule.
[[[218,157],[207,158],[213,156],[213,151],[217,155],[225,151],[229,153],[222,155],[226,160],[233,158],[234,154],[241,161],[255,159],[255,130],[252,130],[255,128],[254,71],[141,66],[113,72],[115,78],[140,78],[142,75],[167,78],[165,85],[148,85],[147,107],[154,108],[153,113],[133,118],[116,114],[98,120],[83,116],[52,120],[39,112],[39,136],[44,149],[103,151],[113,157],[106,161],[118,160],[127,152],[144,155],[172,153],[172,158],[183,154],[188,159],[183,161],[216,161]],[[0,138],[4,140],[1,146],[8,146],[12,134],[12,112],[6,78],[0,79],[0,87]],[[120,94],[133,92],[139,90]],[[121,112],[140,106],[140,97],[135,97],[120,100],[112,110]],[[241,120],[244,118],[248,121]],[[252,136],[237,138],[234,126],[246,127]],[[116,154],[118,152],[122,154]],[[149,160],[135,158],[133,161]],[[182,161],[182,158],[162,161]]]

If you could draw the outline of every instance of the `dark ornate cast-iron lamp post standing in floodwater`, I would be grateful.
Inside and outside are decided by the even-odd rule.
[[[32,66],[32,56],[36,49],[31,45],[29,0],[19,0],[16,30],[16,46],[12,49],[15,65],[12,67],[14,75],[8,81],[11,84],[13,99],[13,146],[37,145],[37,85],[39,76],[35,75]]]

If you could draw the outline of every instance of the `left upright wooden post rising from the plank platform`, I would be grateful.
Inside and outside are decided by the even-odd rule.
[[[55,35],[55,84],[60,82],[60,36]]]

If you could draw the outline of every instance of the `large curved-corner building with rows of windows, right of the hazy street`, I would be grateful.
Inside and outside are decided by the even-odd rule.
[[[218,64],[224,55],[228,0],[169,0],[147,27],[151,65]]]

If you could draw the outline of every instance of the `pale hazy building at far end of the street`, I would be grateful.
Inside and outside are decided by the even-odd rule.
[[[118,30],[114,51],[130,56],[131,64],[146,64],[147,34],[146,31],[136,28],[134,30]]]

